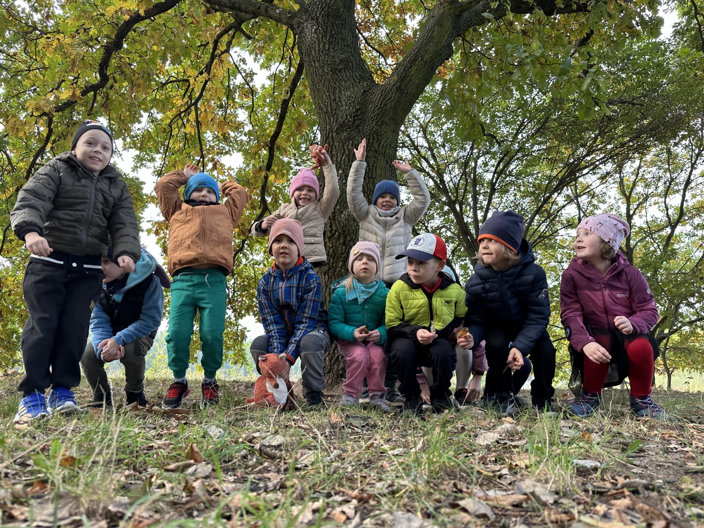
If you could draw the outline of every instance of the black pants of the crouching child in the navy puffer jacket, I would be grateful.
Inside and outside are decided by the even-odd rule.
[[[510,394],[513,388],[513,372],[508,367],[506,360],[510,351],[510,342],[513,341],[520,330],[501,327],[487,327],[484,329],[486,339],[486,362],[489,363],[491,376],[487,377],[486,390],[491,394],[504,392]],[[552,400],[555,394],[553,378],[555,377],[555,347],[547,332],[543,332],[536,340],[530,354],[533,363],[531,382],[531,400],[536,406],[543,405]]]

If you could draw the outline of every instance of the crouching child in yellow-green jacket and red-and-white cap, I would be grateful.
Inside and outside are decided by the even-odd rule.
[[[447,248],[436,234],[424,233],[396,258],[408,257],[408,272],[386,297],[386,329],[391,363],[401,380],[404,410],[422,411],[417,367],[432,367],[430,402],[436,412],[451,408],[450,383],[456,354],[450,334],[467,312],[462,287],[441,270]]]

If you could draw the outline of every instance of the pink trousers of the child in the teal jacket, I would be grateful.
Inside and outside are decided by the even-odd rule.
[[[345,358],[347,367],[347,379],[342,384],[342,390],[358,398],[366,377],[370,395],[386,394],[384,376],[388,360],[384,356],[383,346],[342,339],[337,340],[337,346]]]

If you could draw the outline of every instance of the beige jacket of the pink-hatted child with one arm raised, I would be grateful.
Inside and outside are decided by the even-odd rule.
[[[320,200],[308,203],[307,206],[296,207],[296,202],[284,203],[275,210],[273,215],[281,215],[283,218],[293,218],[301,222],[303,227],[303,243],[306,249],[303,256],[310,263],[325,263],[327,255],[325,253],[325,242],[322,239],[325,230],[325,220],[332,214],[337,199],[340,196],[340,186],[337,182],[337,170],[335,165],[323,165],[322,172],[325,174],[325,189]],[[255,222],[252,226],[252,234],[255,237],[268,237],[269,230],[261,229],[262,222]]]

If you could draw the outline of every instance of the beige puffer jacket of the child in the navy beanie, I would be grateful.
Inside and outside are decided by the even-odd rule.
[[[406,273],[406,259],[396,260],[396,255],[408,246],[413,224],[420,220],[430,204],[430,193],[418,171],[410,170],[404,174],[404,177],[413,193],[413,200],[408,206],[382,211],[374,204],[367,203],[362,192],[366,168],[365,161],[357,160],[352,163],[347,180],[347,205],[359,222],[360,241],[379,244],[382,256],[379,277],[384,282],[395,282]]]

